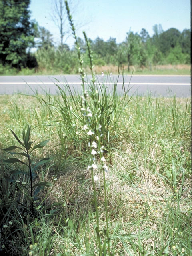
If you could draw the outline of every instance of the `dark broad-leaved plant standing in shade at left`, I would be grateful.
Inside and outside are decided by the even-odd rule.
[[[12,134],[16,138],[16,140],[19,142],[21,146],[10,146],[8,148],[4,148],[2,150],[8,151],[10,154],[16,154],[18,156],[24,156],[27,160],[26,162],[23,162],[22,160],[18,158],[9,158],[7,160],[4,160],[4,163],[7,164],[14,164],[16,162],[23,164],[28,167],[29,172],[21,171],[21,170],[12,170],[11,174],[17,175],[17,174],[23,174],[24,177],[29,176],[30,178],[30,189],[27,188],[26,182],[21,182],[20,180],[13,180],[12,178],[8,176],[4,176],[4,178],[9,182],[16,182],[18,183],[19,189],[24,192],[24,190],[27,190],[28,193],[24,192],[24,194],[27,196],[27,198],[31,202],[31,213],[34,215],[34,201],[37,200],[36,195],[38,192],[43,189],[45,186],[49,187],[52,184],[50,182],[39,182],[38,184],[33,185],[33,180],[35,178],[35,170],[38,168],[38,166],[41,166],[43,164],[46,164],[50,161],[50,158],[43,158],[39,162],[35,163],[31,160],[31,154],[37,149],[43,148],[49,140],[44,140],[40,142],[39,144],[36,144],[32,147],[34,144],[34,141],[30,141],[30,132],[31,132],[31,126],[27,126],[27,131],[23,129],[22,132],[22,138],[23,142],[18,138],[18,136],[11,130]],[[22,150],[22,152],[11,152],[12,150]],[[34,188],[36,187],[36,190]],[[29,195],[30,194],[30,195]]]

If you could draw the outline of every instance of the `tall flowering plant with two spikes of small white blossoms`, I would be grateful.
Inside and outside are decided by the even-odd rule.
[[[92,186],[94,192],[94,204],[96,209],[96,238],[98,244],[98,255],[103,256],[107,254],[111,255],[110,253],[110,236],[109,236],[109,225],[108,225],[108,212],[107,212],[107,190],[106,190],[106,177],[105,174],[108,171],[108,166],[106,165],[106,159],[103,156],[104,153],[104,146],[102,145],[102,125],[100,124],[100,118],[102,115],[102,111],[100,109],[100,98],[99,93],[96,87],[96,77],[95,73],[93,72],[94,64],[93,64],[93,56],[92,50],[90,49],[90,44],[88,42],[88,38],[86,33],[83,32],[84,38],[86,41],[87,49],[88,49],[88,56],[90,60],[90,70],[92,73],[92,79],[90,80],[90,91],[87,91],[85,88],[86,81],[85,81],[85,72],[83,69],[83,59],[82,55],[80,54],[80,46],[78,44],[74,23],[72,20],[72,16],[70,15],[70,9],[68,6],[68,2],[65,1],[66,10],[68,14],[68,20],[72,29],[72,34],[75,39],[78,59],[79,59],[79,72],[82,80],[82,115],[84,116],[84,127],[83,129],[86,131],[86,134],[89,138],[88,146],[90,148],[90,164],[88,165],[87,170],[91,172],[92,178]],[[99,165],[99,163],[101,163]],[[104,203],[105,203],[105,220],[106,220],[106,229],[104,231],[104,240],[101,239],[101,230],[99,226],[99,208],[97,202],[97,191],[96,191],[96,182],[98,177],[94,175],[97,170],[101,170],[103,176],[103,186],[104,186]]]

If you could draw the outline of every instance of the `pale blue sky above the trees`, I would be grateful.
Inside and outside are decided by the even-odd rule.
[[[54,24],[51,15],[53,2],[56,0],[31,0],[31,19],[39,26],[48,29],[55,44],[60,42],[59,29]],[[64,1],[64,0],[63,0]],[[71,0],[70,10],[77,35],[83,38],[85,31],[92,40],[97,36],[107,41],[110,37],[120,43],[126,39],[130,30],[140,33],[145,28],[153,35],[153,26],[161,24],[164,31],[177,28],[182,32],[190,29],[190,0]],[[69,1],[68,1],[69,2]],[[68,30],[68,20],[66,20]],[[65,41],[70,48],[74,38],[69,36]]]

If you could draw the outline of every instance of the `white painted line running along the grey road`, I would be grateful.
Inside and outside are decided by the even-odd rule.
[[[68,85],[80,85],[81,82],[68,82],[68,83],[54,83],[54,82],[0,82],[0,85],[22,85],[22,84],[37,84],[37,85],[56,85],[56,84],[68,84]],[[107,85],[111,85],[112,83],[104,83]],[[118,85],[122,85],[122,82],[117,83]],[[191,85],[190,83],[124,83],[124,85]]]

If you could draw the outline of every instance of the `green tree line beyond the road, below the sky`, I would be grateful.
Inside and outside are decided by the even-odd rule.
[[[49,30],[30,20],[29,4],[30,0],[0,0],[0,71],[2,67],[10,67],[17,70],[36,68],[39,71],[78,72],[76,48],[70,49],[63,42],[64,27],[60,30],[61,42],[56,46]],[[150,37],[145,28],[140,33],[129,30],[120,44],[111,37],[107,41],[100,37],[89,39],[94,64],[126,65],[128,71],[131,65],[190,64],[189,29],[182,32],[176,28],[163,31],[162,26],[156,24],[153,32]],[[88,65],[86,44],[82,38],[78,38],[78,42],[84,64]],[[33,47],[36,47],[36,52],[31,53]]]

